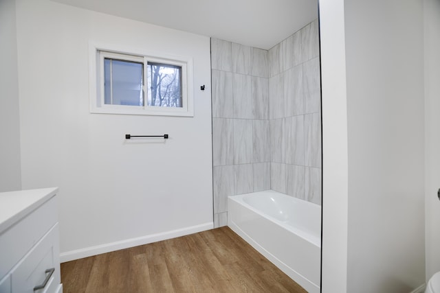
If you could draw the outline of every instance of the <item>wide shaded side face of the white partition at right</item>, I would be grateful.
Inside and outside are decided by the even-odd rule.
[[[423,5],[346,1],[348,292],[425,279]]]

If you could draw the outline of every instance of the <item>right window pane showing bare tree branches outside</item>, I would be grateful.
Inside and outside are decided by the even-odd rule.
[[[148,106],[182,107],[181,66],[148,62]]]

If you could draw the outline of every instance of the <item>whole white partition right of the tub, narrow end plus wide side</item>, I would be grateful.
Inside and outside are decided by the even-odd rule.
[[[330,9],[327,0],[320,1],[322,292],[410,292],[425,280],[423,6],[409,0],[344,1],[343,7],[342,2]],[[330,21],[330,16],[336,18]],[[329,23],[333,32],[326,27]],[[329,106],[340,101],[338,93],[343,95],[343,87],[335,93],[340,84],[329,81],[344,78],[344,71],[328,66],[331,49],[343,42],[345,56],[336,58],[342,57],[346,64],[347,125],[340,117],[344,106]],[[335,76],[330,79],[331,74]],[[333,119],[336,125],[328,126]],[[332,149],[336,143],[330,142],[335,139],[344,148],[345,138],[330,134],[347,129],[346,197],[343,150]],[[339,166],[335,156],[342,157]],[[333,189],[336,183],[341,184],[340,194]]]

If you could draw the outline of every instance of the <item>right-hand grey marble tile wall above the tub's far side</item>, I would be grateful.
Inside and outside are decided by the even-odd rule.
[[[321,204],[318,20],[268,52],[271,189]]]

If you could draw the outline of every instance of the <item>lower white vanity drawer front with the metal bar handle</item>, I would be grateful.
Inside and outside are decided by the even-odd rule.
[[[12,292],[34,293],[34,287],[43,284],[46,277],[45,287],[35,292],[56,292],[61,283],[58,234],[57,223],[12,269],[10,273]],[[46,272],[51,268],[54,268],[52,274]]]

